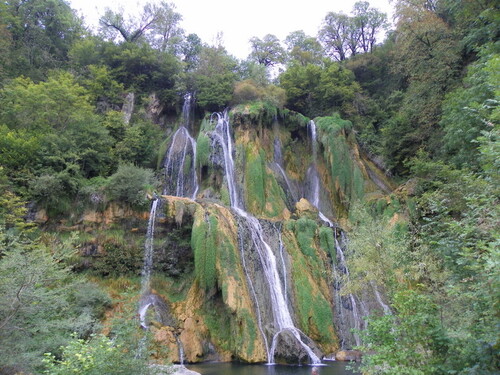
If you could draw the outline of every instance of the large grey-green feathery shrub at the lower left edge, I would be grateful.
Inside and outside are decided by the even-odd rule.
[[[0,356],[2,365],[37,369],[42,353],[58,353],[71,332],[85,337],[99,328],[109,298],[79,280],[64,262],[74,249],[68,242],[22,235],[0,228]],[[8,239],[8,240],[7,240]],[[45,242],[46,239],[44,240]]]

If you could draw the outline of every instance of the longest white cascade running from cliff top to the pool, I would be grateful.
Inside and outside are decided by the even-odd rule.
[[[268,342],[264,335],[264,341],[266,343],[266,350],[268,353],[268,363],[274,363],[274,352],[276,349],[277,339],[279,334],[284,331],[289,331],[295,337],[301,347],[308,353],[312,363],[320,363],[320,359],[318,358],[318,356],[309,346],[307,346],[302,341],[302,333],[295,327],[293,323],[290,310],[285,301],[285,293],[283,291],[282,283],[279,277],[276,256],[265,240],[264,230],[259,220],[245,211],[242,201],[239,197],[238,188],[235,181],[233,141],[230,133],[228,113],[226,111],[223,114],[217,114],[217,116],[218,121],[215,127],[214,135],[216,141],[218,141],[224,153],[225,178],[228,185],[231,208],[238,215],[240,220],[244,223],[245,227],[249,231],[249,234],[251,236],[251,243],[253,244],[253,248],[258,254],[260,265],[265,275],[269,290],[276,333],[274,334],[272,340],[271,349],[268,348]],[[244,254],[242,254],[242,258],[244,258],[243,255]],[[249,283],[252,284],[252,280],[249,280]],[[253,286],[250,286],[250,289],[255,293],[255,289],[253,288]],[[257,300],[257,298],[255,298],[255,300]],[[260,319],[259,323],[262,324]],[[261,330],[261,333],[263,333],[263,328],[259,328]]]

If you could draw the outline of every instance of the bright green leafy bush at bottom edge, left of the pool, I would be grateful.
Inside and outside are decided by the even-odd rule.
[[[63,347],[61,359],[51,353],[45,354],[44,374],[66,375],[132,375],[151,374],[146,361],[137,359],[132,353],[103,335],[90,340],[74,338]]]

